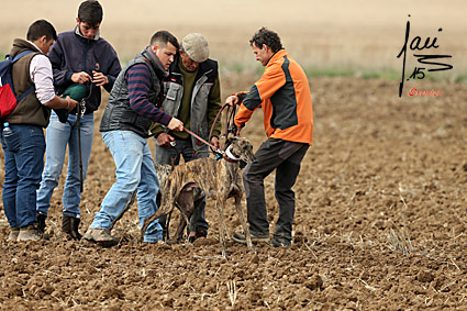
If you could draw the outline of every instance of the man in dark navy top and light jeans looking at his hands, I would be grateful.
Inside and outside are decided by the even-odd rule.
[[[65,123],[62,123],[58,115],[52,112],[51,124],[46,132],[45,169],[37,191],[37,222],[38,227],[44,231],[51,197],[58,186],[68,145],[62,231],[74,240],[81,238],[78,232],[81,202],[78,129],[80,129],[82,178],[85,179],[94,132],[93,112],[101,102],[101,87],[110,92],[121,70],[115,51],[99,36],[102,14],[102,7],[98,1],[82,2],[78,9],[75,30],[58,34],[58,40],[48,54],[58,93],[63,93],[73,84],[82,84],[88,88],[85,111],[79,118],[80,124],[78,124],[78,109],[71,111]]]

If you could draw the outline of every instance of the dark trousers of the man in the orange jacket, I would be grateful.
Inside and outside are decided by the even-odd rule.
[[[276,169],[275,192],[279,203],[279,218],[275,236],[292,238],[296,195],[292,190],[300,164],[309,148],[308,144],[268,138],[256,152],[256,160],[243,171],[247,218],[253,235],[268,235],[264,179]]]

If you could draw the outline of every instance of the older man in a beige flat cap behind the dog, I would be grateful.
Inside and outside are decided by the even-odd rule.
[[[209,59],[209,46],[204,36],[190,33],[181,41],[180,49],[170,65],[170,75],[164,79],[163,110],[177,116],[186,129],[205,141],[222,108],[218,68],[218,62]],[[219,119],[211,138],[215,148],[220,147],[221,130],[222,123]],[[152,132],[155,133],[157,142],[157,163],[171,164],[174,158],[174,164],[178,165],[180,155],[185,162],[209,156],[208,146],[187,132],[174,132],[160,124],[155,124]],[[175,146],[171,147],[170,144],[174,143]],[[204,219],[205,197],[194,203],[196,231],[189,233],[191,242],[207,236],[209,227]]]

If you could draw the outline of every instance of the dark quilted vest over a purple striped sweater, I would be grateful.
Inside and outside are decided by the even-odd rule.
[[[100,132],[126,130],[133,131],[145,138],[149,136],[149,127],[153,122],[149,119],[137,114],[131,109],[129,86],[125,80],[125,75],[130,67],[141,63],[148,65],[147,62],[142,57],[145,57],[151,62],[151,66],[147,67],[151,71],[152,84],[149,92],[147,93],[147,98],[154,105],[157,105],[162,96],[162,79],[164,77],[164,73],[157,67],[156,64],[153,63],[147,52],[143,51],[136,55],[135,58],[130,60],[126,67],[120,71],[119,76],[116,77],[112,91],[109,96],[109,102],[102,115],[102,121],[99,129]]]

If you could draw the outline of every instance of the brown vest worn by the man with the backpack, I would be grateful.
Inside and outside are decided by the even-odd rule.
[[[22,38],[14,40],[10,54],[14,57],[26,49],[36,51],[37,53],[27,54],[13,65],[11,75],[16,96],[21,96],[34,85],[30,75],[31,60],[35,55],[42,54],[34,45]],[[43,105],[36,98],[35,91],[32,91],[18,103],[16,108],[4,121],[10,124],[30,124],[46,127],[49,116],[51,109]]]

